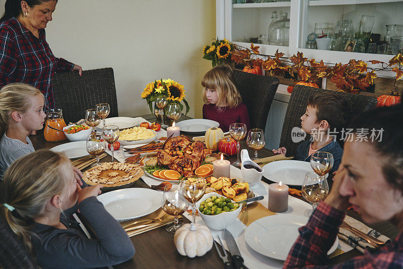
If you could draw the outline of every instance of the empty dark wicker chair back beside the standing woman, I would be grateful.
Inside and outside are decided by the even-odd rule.
[[[96,104],[108,103],[108,117],[117,117],[117,99],[113,69],[95,69],[83,72],[56,73],[53,77],[56,107],[63,110],[66,123],[84,118],[85,111]]]

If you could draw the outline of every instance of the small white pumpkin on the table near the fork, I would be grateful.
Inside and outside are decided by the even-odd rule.
[[[174,235],[174,243],[179,254],[194,258],[203,256],[213,247],[210,229],[201,224],[186,223]],[[194,229],[195,228],[195,229]]]

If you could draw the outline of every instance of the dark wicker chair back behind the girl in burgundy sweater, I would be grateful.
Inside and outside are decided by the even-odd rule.
[[[239,70],[234,70],[234,76],[242,102],[248,108],[250,127],[264,130],[279,79]]]

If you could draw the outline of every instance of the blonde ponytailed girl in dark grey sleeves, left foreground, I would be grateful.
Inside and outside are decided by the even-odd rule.
[[[81,189],[74,174],[62,153],[39,150],[18,159],[4,175],[0,213],[40,267],[101,267],[131,258],[133,244],[96,198],[101,185]],[[77,209],[97,239],[70,227],[67,216]]]

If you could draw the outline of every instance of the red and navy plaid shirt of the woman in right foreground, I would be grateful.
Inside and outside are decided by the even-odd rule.
[[[333,244],[344,212],[321,202],[288,254],[283,268],[403,268],[403,233],[378,251],[366,250],[362,256],[343,263],[328,264],[327,251]]]

